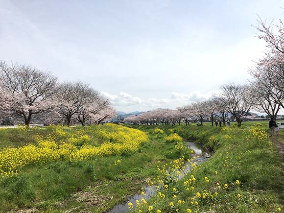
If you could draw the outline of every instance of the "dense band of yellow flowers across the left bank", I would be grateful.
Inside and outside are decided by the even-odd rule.
[[[37,138],[37,144],[21,147],[6,147],[0,150],[0,174],[11,176],[29,164],[47,164],[56,161],[83,161],[95,157],[120,155],[135,152],[148,136],[140,130],[115,124],[90,126],[99,142],[82,133],[68,133],[63,127],[55,128],[55,135]],[[58,138],[59,140],[58,140]],[[115,164],[119,164],[119,160]]]

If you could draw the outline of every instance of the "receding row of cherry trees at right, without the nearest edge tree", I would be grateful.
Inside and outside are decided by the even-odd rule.
[[[142,113],[138,116],[125,118],[125,122],[136,124],[166,124],[172,125],[199,120],[203,125],[205,119],[210,120],[213,126],[215,120],[221,120],[223,125],[232,116],[236,119],[238,126],[244,118],[249,118],[249,111],[254,107],[256,99],[248,85],[226,84],[221,87],[221,93],[205,101],[191,103],[187,106],[171,109],[156,109]]]

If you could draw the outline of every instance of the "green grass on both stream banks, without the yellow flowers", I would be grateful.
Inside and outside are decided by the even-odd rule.
[[[185,141],[195,141],[207,147],[213,151],[213,156],[191,172],[196,178],[194,191],[185,189],[184,180],[174,182],[167,191],[162,191],[165,199],[160,201],[157,196],[152,197],[142,212],[148,212],[149,205],[154,207],[153,213],[156,213],[157,208],[163,210],[163,213],[173,213],[176,209],[184,213],[188,208],[198,213],[273,213],[277,212],[278,207],[284,209],[284,172],[276,148],[269,140],[248,138],[251,136],[249,130],[254,127],[268,132],[268,122],[243,122],[241,128],[231,128],[229,131],[222,131],[219,126],[212,127],[211,123],[201,127],[194,124],[127,126],[138,128],[149,135],[149,142],[142,143],[135,153],[77,163],[61,161],[29,165],[23,167],[17,176],[0,179],[0,212],[35,208],[43,213],[103,213],[112,209],[116,204],[126,202],[129,196],[140,192],[148,178],[159,175],[158,165],[166,165],[184,154],[175,149],[175,142],[166,143],[165,136],[172,133],[177,133]],[[0,130],[0,149],[36,143],[39,136],[52,137],[55,134],[52,128]],[[156,128],[165,133],[155,133]],[[75,127],[64,131],[84,131],[94,144],[102,142],[88,128]],[[64,140],[59,136],[55,139],[57,142]],[[284,142],[283,132],[278,140]],[[186,157],[189,158],[188,155]],[[121,163],[114,165],[117,160],[121,160]],[[210,180],[209,183],[204,181],[205,176]],[[185,178],[189,179],[190,174]],[[240,185],[236,186],[236,180],[240,181]],[[213,194],[216,183],[222,187],[228,184],[229,187],[227,190],[218,190],[218,196],[210,201],[201,200],[199,210],[192,207],[189,198],[205,190]],[[173,198],[173,188],[177,189],[176,199]],[[237,198],[238,193],[240,198]],[[178,204],[179,199],[185,203]],[[173,209],[169,207],[170,202],[174,202]]]

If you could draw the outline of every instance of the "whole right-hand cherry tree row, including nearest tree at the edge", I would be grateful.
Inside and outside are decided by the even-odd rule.
[[[234,116],[238,126],[250,110],[266,113],[276,119],[284,108],[284,24],[267,25],[259,20],[256,26],[260,32],[259,38],[266,42],[265,56],[259,59],[249,70],[252,79],[244,85],[226,84],[220,87],[221,93],[212,99],[191,103],[178,107],[176,110],[157,109],[131,116],[125,119],[132,123],[163,123],[173,125],[184,121],[186,125],[192,119],[198,119],[203,124],[205,118],[212,122],[218,118],[225,121]]]

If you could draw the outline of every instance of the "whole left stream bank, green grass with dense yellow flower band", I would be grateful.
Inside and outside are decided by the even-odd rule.
[[[112,209],[181,156],[165,136],[115,124],[0,129],[0,212]]]

